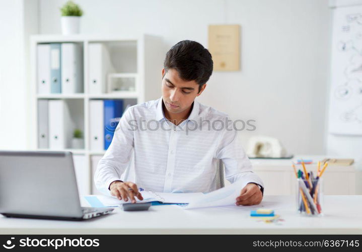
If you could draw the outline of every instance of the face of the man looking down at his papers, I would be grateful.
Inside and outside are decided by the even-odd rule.
[[[199,85],[195,81],[182,80],[174,69],[169,69],[166,74],[163,69],[162,76],[162,98],[170,113],[181,113],[188,109],[206,87],[204,84],[198,92]]]

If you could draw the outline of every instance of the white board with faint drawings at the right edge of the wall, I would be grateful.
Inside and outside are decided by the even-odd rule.
[[[333,17],[329,132],[362,135],[362,6]]]

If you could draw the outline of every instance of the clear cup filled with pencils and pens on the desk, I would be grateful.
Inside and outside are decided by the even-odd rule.
[[[323,179],[297,179],[297,211],[306,216],[323,216]]]

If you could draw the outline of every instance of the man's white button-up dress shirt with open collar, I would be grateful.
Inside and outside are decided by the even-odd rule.
[[[230,182],[241,181],[242,187],[249,182],[263,186],[238,142],[238,132],[231,122],[226,123],[227,114],[195,100],[189,117],[176,126],[165,118],[162,105],[161,97],[131,106],[124,112],[94,175],[99,191],[110,195],[108,188],[113,181],[121,180],[132,150],[135,175],[132,182],[144,190],[213,191],[218,159],[223,160]]]

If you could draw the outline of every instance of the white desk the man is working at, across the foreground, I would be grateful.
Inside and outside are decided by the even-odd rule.
[[[264,223],[250,210],[272,208],[284,222]],[[183,210],[175,205],[124,212],[87,221],[0,217],[0,234],[362,234],[362,196],[325,196],[325,216],[296,213],[295,197],[266,196],[259,206]]]

